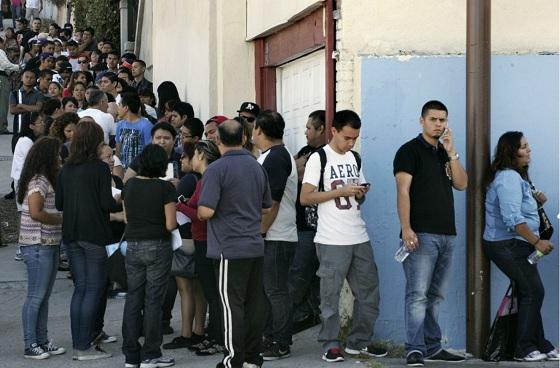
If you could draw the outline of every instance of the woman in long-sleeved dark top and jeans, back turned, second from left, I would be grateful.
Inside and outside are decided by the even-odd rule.
[[[111,354],[91,345],[99,302],[107,284],[107,253],[111,241],[109,211],[111,172],[98,158],[103,130],[90,120],[80,120],[56,186],[56,208],[63,211],[62,241],[70,258],[74,294],[70,305],[74,359],[109,358]]]

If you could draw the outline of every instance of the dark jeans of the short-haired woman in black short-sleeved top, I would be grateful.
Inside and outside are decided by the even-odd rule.
[[[128,240],[125,261],[128,294],[122,326],[122,351],[127,363],[138,364],[161,356],[162,306],[172,258],[169,240]],[[143,346],[138,342],[142,326]]]

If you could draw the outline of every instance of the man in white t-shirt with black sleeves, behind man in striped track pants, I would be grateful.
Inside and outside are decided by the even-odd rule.
[[[282,115],[270,110],[259,114],[253,128],[253,140],[262,151],[258,161],[266,170],[272,208],[262,217],[264,242],[264,292],[269,318],[264,329],[263,360],[290,356],[293,305],[288,275],[298,241],[296,227],[297,168],[292,154],[284,146]]]

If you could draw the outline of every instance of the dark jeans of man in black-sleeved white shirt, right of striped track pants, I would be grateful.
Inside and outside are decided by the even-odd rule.
[[[264,337],[282,345],[292,343],[293,305],[288,290],[288,274],[296,242],[266,240],[264,243],[264,293],[269,304]]]

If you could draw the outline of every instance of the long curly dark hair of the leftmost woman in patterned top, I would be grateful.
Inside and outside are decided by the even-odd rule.
[[[43,175],[53,188],[56,186],[60,169],[59,152],[60,141],[53,137],[41,137],[31,146],[18,182],[18,203],[23,203],[29,182],[35,175]]]

